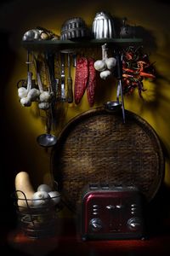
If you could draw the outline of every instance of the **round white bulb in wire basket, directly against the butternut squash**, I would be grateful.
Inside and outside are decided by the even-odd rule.
[[[37,191],[31,198],[33,207],[43,207],[50,203],[50,195],[46,191]]]

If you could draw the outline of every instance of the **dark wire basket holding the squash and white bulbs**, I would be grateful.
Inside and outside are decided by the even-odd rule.
[[[42,199],[26,199],[21,190],[14,191],[14,207],[19,229],[30,238],[54,236],[58,230],[58,212],[62,209],[60,195]],[[59,201],[55,204],[54,201]]]

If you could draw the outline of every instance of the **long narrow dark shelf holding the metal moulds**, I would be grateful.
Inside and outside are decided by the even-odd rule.
[[[22,41],[22,46],[27,50],[53,52],[62,49],[93,48],[101,44],[112,44],[115,47],[141,44],[142,38],[111,38],[111,39],[83,39],[83,40],[41,40],[41,41]]]

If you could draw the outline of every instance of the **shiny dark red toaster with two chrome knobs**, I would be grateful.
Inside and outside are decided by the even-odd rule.
[[[134,186],[89,184],[82,196],[82,240],[143,239],[143,196]]]

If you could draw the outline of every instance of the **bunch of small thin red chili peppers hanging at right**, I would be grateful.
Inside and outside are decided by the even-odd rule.
[[[135,88],[142,97],[144,79],[156,79],[154,63],[150,63],[149,55],[145,54],[142,47],[135,49],[128,47],[122,52],[122,87],[124,94],[132,94]]]

